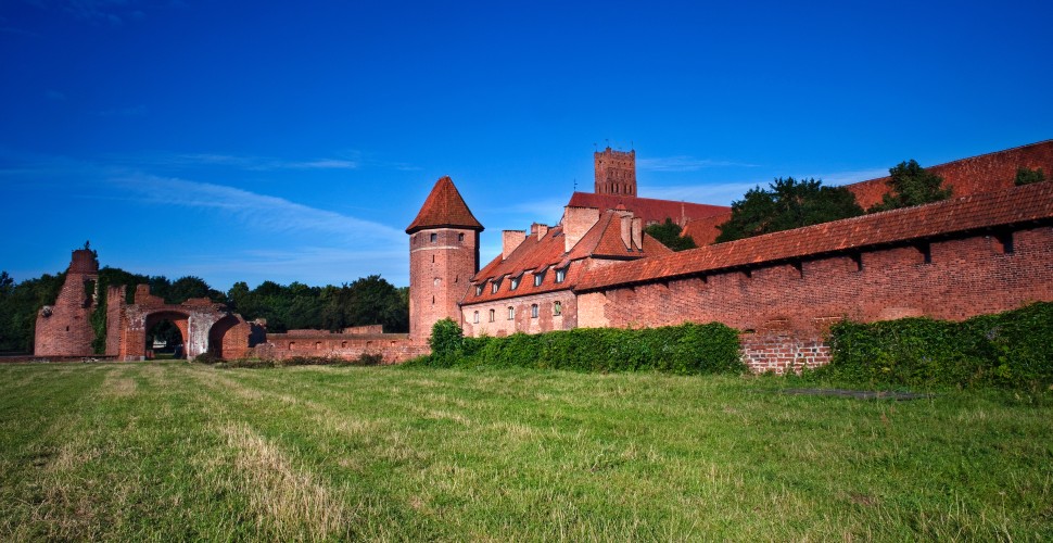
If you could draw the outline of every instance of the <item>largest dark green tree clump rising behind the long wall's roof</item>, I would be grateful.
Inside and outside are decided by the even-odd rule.
[[[824,187],[816,179],[777,178],[732,202],[732,217],[718,226],[716,242],[751,238],[863,214],[855,195],[845,187]]]

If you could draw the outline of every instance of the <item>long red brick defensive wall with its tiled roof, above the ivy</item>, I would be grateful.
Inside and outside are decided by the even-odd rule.
[[[962,320],[1053,301],[1053,182],[589,270],[582,327],[720,321],[757,371],[824,364],[832,323]]]

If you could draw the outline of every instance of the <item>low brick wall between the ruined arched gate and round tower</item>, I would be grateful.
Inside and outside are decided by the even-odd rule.
[[[354,361],[364,354],[379,354],[385,364],[395,364],[430,352],[427,343],[416,342],[405,333],[350,334],[296,330],[296,333],[267,334],[267,341],[249,349],[248,355],[266,359],[321,356]]]

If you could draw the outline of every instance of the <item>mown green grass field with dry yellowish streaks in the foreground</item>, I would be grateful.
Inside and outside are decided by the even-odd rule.
[[[1053,539],[1053,407],[782,382],[0,366],[0,539]]]

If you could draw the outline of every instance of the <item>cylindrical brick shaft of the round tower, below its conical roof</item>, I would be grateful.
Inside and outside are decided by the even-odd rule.
[[[426,343],[437,320],[457,320],[457,305],[479,270],[479,232],[429,228],[409,236],[409,337]]]

